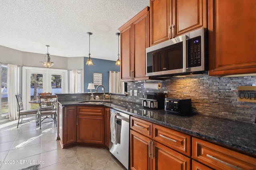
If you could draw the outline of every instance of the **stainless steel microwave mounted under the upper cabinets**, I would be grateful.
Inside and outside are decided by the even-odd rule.
[[[208,75],[206,29],[146,48],[146,76]]]

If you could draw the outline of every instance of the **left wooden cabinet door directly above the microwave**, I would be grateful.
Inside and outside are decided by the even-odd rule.
[[[150,46],[170,38],[172,0],[150,0]]]

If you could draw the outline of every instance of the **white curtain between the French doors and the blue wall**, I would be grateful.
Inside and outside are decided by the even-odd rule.
[[[81,71],[71,70],[70,71],[70,93],[80,93],[81,92]]]

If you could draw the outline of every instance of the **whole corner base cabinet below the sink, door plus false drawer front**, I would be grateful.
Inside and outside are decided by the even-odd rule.
[[[104,107],[78,106],[76,141],[104,145]]]

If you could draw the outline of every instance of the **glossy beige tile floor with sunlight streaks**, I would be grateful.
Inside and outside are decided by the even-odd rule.
[[[42,129],[35,122],[18,128],[17,123],[0,123],[0,160],[4,160],[0,170],[20,170],[38,163],[41,170],[125,170],[107,149],[61,149],[53,122],[42,124]]]

